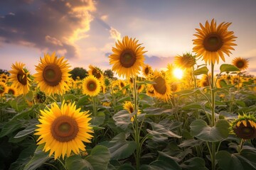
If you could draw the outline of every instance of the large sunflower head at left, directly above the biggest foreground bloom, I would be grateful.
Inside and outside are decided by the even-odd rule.
[[[53,52],[52,55],[40,57],[40,63],[36,66],[37,73],[33,76],[41,91],[46,94],[63,94],[67,88],[68,77],[71,70],[64,57],[58,58]]]

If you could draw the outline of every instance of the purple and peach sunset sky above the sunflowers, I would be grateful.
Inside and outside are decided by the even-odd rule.
[[[0,69],[23,62],[33,74],[40,57],[53,52],[71,69],[112,69],[108,56],[125,35],[145,47],[146,64],[162,69],[176,55],[194,54],[196,28],[214,18],[232,23],[228,30],[238,37],[225,63],[243,57],[256,76],[255,8],[255,0],[0,0]]]

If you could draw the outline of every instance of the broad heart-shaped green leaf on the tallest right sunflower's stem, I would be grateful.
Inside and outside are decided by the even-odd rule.
[[[229,123],[227,120],[218,120],[215,126],[210,127],[204,120],[194,120],[191,125],[191,135],[207,142],[218,142],[228,137]]]

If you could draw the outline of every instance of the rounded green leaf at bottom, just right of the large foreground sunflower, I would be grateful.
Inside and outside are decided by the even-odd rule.
[[[107,169],[107,164],[110,162],[110,152],[107,147],[97,145],[85,159],[90,162],[94,170]]]

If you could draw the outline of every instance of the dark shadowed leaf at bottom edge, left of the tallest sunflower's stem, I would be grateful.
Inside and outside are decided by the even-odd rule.
[[[206,168],[206,162],[200,157],[193,157],[181,164],[184,170],[208,170]]]

